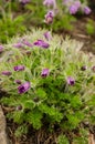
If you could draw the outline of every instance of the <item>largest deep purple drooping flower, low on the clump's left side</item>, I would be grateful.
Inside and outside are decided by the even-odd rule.
[[[20,94],[25,93],[25,92],[29,91],[30,88],[31,88],[30,82],[25,82],[25,83],[21,84],[21,85],[18,88],[18,92],[19,92]]]

